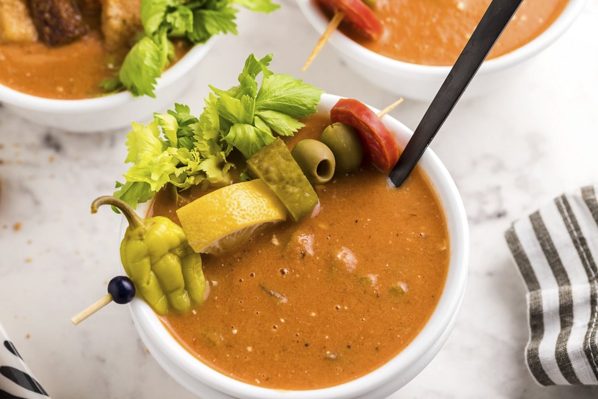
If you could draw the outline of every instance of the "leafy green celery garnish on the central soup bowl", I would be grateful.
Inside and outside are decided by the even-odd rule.
[[[126,143],[126,162],[133,165],[114,195],[135,208],[167,184],[178,190],[228,184],[233,150],[249,158],[276,134],[292,136],[301,129],[298,118],[316,111],[322,90],[274,74],[268,69],[271,59],[271,54],[262,59],[251,54],[239,85],[228,90],[210,86],[212,93],[199,117],[188,106],[175,104],[166,114],[155,113],[147,126],[133,123]]]

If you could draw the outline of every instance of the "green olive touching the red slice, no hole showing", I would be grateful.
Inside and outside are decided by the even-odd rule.
[[[359,134],[346,123],[332,123],[322,132],[321,141],[328,145],[336,160],[338,173],[357,169],[364,159],[364,146]]]

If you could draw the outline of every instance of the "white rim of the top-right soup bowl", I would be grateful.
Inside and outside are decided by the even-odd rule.
[[[555,41],[569,28],[579,13],[583,10],[586,1],[587,0],[569,0],[569,3],[560,16],[557,17],[554,23],[552,23],[544,32],[538,35],[538,37],[509,53],[486,60],[483,65],[480,66],[478,74],[508,68],[509,66],[523,62],[534,54],[544,50],[544,48],[548,47],[551,42]],[[308,17],[310,22],[312,22],[320,33],[323,33],[328,25],[328,19],[321,13],[318,7],[316,7],[313,0],[297,0],[297,2],[301,11]],[[399,69],[421,74],[423,76],[446,76],[449,74],[451,68],[451,66],[420,65],[382,56],[357,44],[341,31],[338,31],[338,29],[332,33],[329,42],[331,42],[334,47],[346,52],[350,57],[356,59],[363,59],[366,57],[367,59],[370,59],[371,67],[380,69],[381,71]]]

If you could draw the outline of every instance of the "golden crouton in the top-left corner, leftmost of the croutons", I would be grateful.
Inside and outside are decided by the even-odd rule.
[[[0,43],[36,41],[38,33],[26,0],[0,1]]]

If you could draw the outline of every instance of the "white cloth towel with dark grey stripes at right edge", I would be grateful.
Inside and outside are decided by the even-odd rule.
[[[527,367],[541,385],[598,384],[597,191],[563,194],[505,233],[527,286]]]

